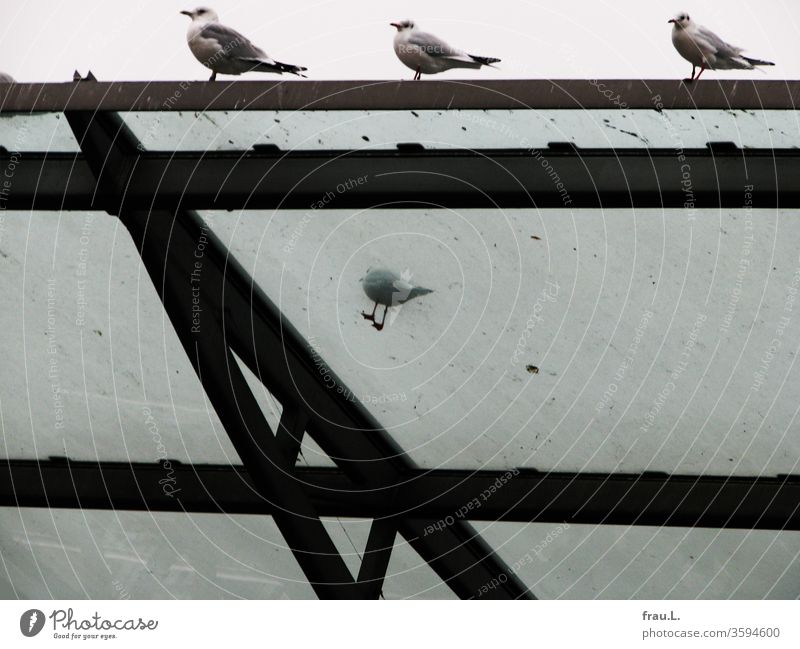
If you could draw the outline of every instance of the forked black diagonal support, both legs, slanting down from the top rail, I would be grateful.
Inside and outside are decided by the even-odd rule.
[[[308,342],[197,214],[181,209],[173,217],[129,207],[127,192],[142,153],[122,120],[81,112],[68,113],[67,118],[98,179],[103,196],[98,207],[118,214],[131,233],[181,344],[259,492],[276,505],[276,523],[311,585],[322,597],[363,595],[300,483],[286,471],[282,450],[233,362],[233,353],[284,408],[305,412],[308,433],[351,480],[390,500],[394,485],[412,465],[366,409],[348,397],[349,391],[333,372],[320,374],[320,362]],[[202,259],[196,254],[201,242]],[[196,299],[202,317],[195,316]],[[331,380],[338,389],[331,389]],[[423,532],[412,522],[403,525],[410,542]],[[426,559],[448,555],[434,569],[460,597],[530,597],[516,577],[505,580],[502,588],[476,595],[484,584],[507,574],[508,568],[474,537],[465,522],[457,521],[437,531],[435,538],[417,543]]]

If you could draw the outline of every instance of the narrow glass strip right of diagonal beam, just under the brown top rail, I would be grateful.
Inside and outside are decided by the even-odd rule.
[[[394,148],[592,147],[796,148],[796,111],[787,110],[450,110],[204,111],[125,113],[146,149],[161,151]]]

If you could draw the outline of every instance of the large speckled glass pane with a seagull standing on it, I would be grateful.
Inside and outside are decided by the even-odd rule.
[[[797,472],[788,211],[206,216],[422,466]],[[378,332],[369,267],[435,292]]]

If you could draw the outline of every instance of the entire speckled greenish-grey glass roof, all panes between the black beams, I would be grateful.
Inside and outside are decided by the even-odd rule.
[[[123,117],[153,151],[800,146],[777,110]],[[0,115],[0,146],[79,151],[55,113]],[[795,211],[751,209],[747,187],[722,210],[355,211],[331,195],[202,216],[418,465],[800,473]],[[241,463],[116,218],[2,211],[0,267],[0,457]],[[378,332],[360,278],[380,267],[433,293]],[[281,404],[240,367],[274,430]],[[298,462],[333,465],[308,436]],[[323,522],[357,575],[371,521]],[[798,595],[796,533],[475,528],[538,597]],[[0,507],[0,566],[9,598],[314,597],[268,516]],[[398,536],[383,596],[454,595]]]

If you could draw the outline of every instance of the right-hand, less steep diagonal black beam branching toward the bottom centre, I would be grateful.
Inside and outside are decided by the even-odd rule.
[[[259,377],[284,408],[301,408],[308,422],[306,432],[345,472],[356,487],[364,487],[393,501],[397,485],[414,469],[411,460],[380,423],[353,398],[347,385],[283,316],[277,306],[254,283],[234,257],[202,222],[179,212],[184,228],[195,238],[205,237],[204,267],[215,268],[226,285],[220,308],[226,338],[233,351]],[[533,598],[513,574],[499,588],[482,587],[499,575],[510,574],[500,560],[464,521],[428,535],[421,521],[404,519],[399,530],[409,543],[431,562],[459,597],[519,599]]]

